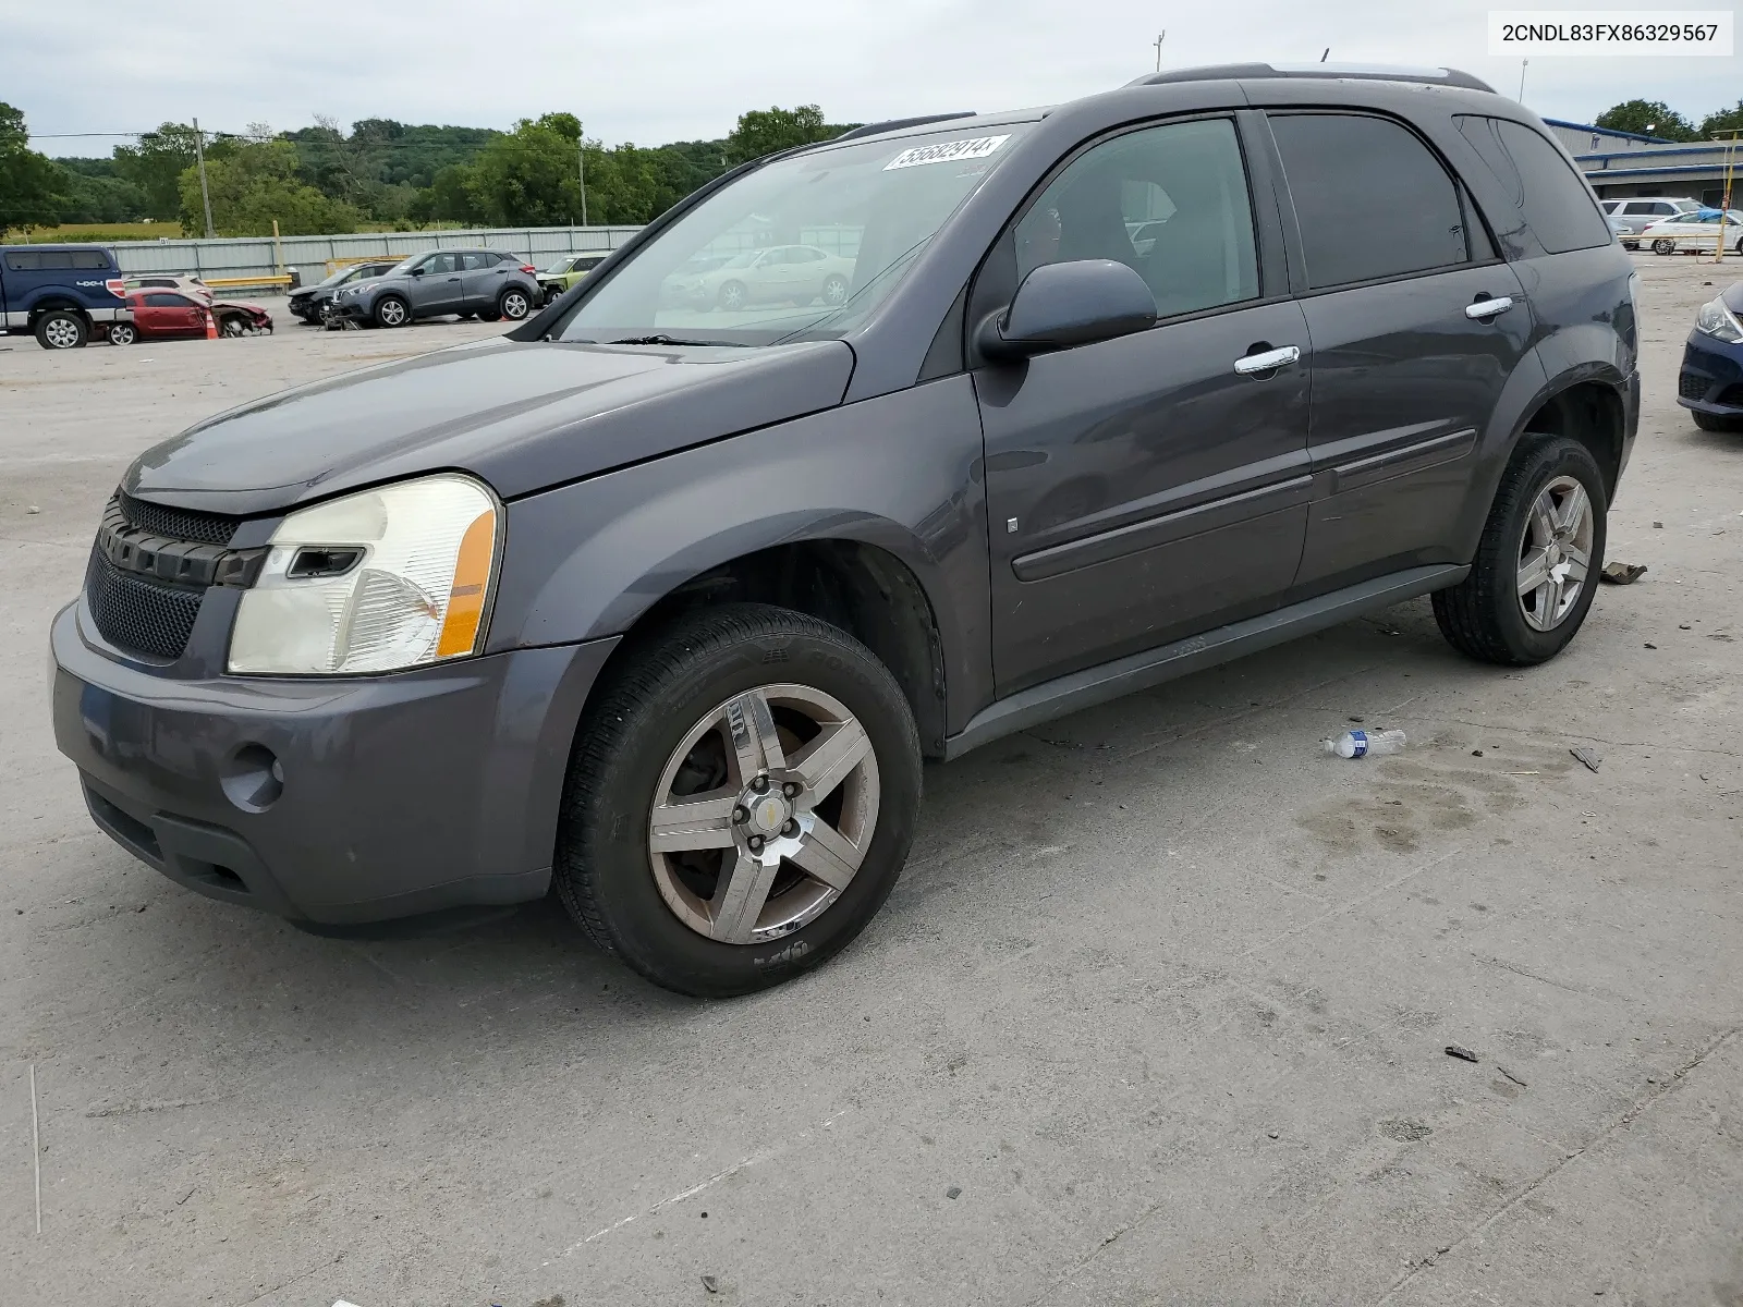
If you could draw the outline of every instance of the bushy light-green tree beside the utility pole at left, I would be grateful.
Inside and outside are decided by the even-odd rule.
[[[207,148],[218,235],[272,235],[274,220],[282,235],[357,230],[357,209],[302,181],[296,166],[296,146],[284,139],[227,139]],[[202,228],[199,169],[190,167],[181,174],[181,230]]]

